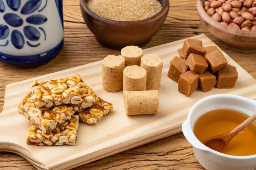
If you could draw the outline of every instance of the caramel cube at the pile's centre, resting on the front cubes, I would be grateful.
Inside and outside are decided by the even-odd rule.
[[[186,65],[189,66],[191,71],[198,74],[203,73],[208,68],[208,63],[203,56],[192,53],[189,54]]]

